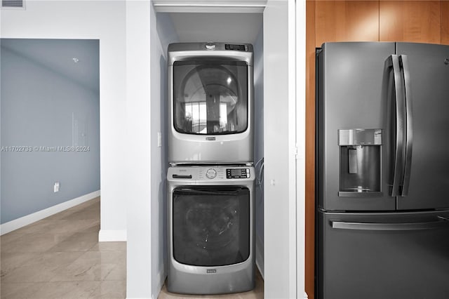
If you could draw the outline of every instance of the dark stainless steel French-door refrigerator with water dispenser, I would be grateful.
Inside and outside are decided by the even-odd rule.
[[[316,292],[449,298],[449,46],[316,54]]]

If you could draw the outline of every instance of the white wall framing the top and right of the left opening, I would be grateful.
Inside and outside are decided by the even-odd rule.
[[[128,157],[125,107],[125,1],[27,1],[1,10],[1,37],[100,39],[100,240],[126,239]]]

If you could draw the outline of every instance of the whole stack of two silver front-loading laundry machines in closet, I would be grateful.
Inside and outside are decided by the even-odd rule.
[[[168,291],[255,284],[253,46],[168,46]]]

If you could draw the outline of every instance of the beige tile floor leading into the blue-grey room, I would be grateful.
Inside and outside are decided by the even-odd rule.
[[[0,298],[125,298],[126,242],[99,230],[98,197],[1,236]]]

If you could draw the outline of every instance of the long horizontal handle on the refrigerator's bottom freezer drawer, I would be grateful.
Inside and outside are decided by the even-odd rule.
[[[330,225],[332,226],[332,228],[340,230],[435,230],[449,225],[449,219],[438,216],[434,221],[410,223],[366,223],[330,221]]]

